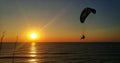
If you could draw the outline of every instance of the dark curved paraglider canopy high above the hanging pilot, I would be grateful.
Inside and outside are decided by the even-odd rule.
[[[83,9],[81,15],[80,15],[80,22],[81,23],[84,23],[85,22],[85,19],[87,18],[87,16],[90,14],[90,13],[93,13],[93,14],[96,14],[96,10],[93,9],[93,8],[90,8],[90,7],[86,7]]]

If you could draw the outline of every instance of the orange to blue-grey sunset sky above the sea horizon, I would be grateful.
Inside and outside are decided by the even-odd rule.
[[[85,7],[96,9],[84,24],[79,17]],[[119,42],[120,0],[0,0],[0,36],[5,42]],[[80,40],[83,32],[86,39]]]

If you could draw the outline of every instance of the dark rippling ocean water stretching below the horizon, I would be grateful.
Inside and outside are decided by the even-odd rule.
[[[3,43],[0,63],[120,63],[120,43]],[[14,55],[13,55],[14,54]]]

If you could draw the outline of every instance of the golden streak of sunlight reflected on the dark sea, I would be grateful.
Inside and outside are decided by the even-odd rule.
[[[37,59],[36,59],[36,43],[32,42],[31,43],[31,47],[30,47],[30,57],[32,57],[31,59],[28,60],[29,63],[37,63]]]

